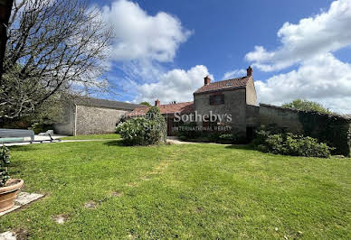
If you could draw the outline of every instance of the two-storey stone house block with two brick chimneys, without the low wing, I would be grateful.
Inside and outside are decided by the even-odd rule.
[[[247,69],[247,76],[223,81],[211,82],[204,78],[204,86],[194,92],[194,110],[199,115],[231,115],[232,121],[217,119],[209,122],[197,121],[198,126],[230,125],[232,132],[251,137],[253,128],[258,125],[252,118],[258,117],[258,112],[251,108],[258,108],[257,95],[252,78],[252,69]]]

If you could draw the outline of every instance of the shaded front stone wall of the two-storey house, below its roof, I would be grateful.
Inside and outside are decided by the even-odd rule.
[[[224,104],[210,105],[210,96],[216,93],[202,93],[194,95],[194,110],[199,115],[208,115],[212,111],[213,115],[232,115],[232,129],[236,133],[246,133],[246,90],[237,88],[228,91],[222,91],[224,95]],[[198,126],[202,126],[198,122]]]

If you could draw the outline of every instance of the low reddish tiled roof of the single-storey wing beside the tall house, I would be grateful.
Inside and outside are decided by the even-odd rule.
[[[194,112],[194,102],[185,102],[185,103],[178,103],[178,104],[166,104],[158,106],[159,111],[161,114],[190,114]],[[146,107],[138,107],[134,109],[132,112],[128,114],[128,116],[135,116],[135,115],[146,115],[150,106]]]

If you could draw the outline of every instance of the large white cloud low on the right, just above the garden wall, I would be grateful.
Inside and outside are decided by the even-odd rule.
[[[281,105],[296,98],[318,101],[339,113],[351,113],[351,64],[331,53],[304,60],[297,70],[255,81],[260,102]]]

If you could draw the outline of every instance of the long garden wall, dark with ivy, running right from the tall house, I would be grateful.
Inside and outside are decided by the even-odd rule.
[[[350,156],[351,118],[346,116],[260,104],[260,124],[277,125],[290,133],[318,138],[336,148],[333,154]]]

